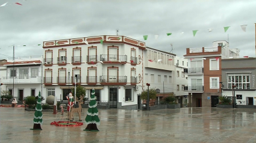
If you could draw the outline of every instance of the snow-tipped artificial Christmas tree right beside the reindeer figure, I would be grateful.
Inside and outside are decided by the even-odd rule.
[[[98,132],[97,124],[100,124],[99,121],[99,112],[97,109],[97,103],[95,101],[95,90],[92,89],[92,96],[91,96],[91,101],[89,103],[89,109],[87,111],[86,115],[86,124],[87,127],[84,129],[84,131],[93,131],[93,132]]]

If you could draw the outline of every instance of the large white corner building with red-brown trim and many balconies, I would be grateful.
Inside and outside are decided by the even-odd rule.
[[[126,36],[91,36],[43,42],[45,96],[66,101],[80,84],[110,108],[138,109],[145,42]],[[145,65],[145,64],[144,64]]]

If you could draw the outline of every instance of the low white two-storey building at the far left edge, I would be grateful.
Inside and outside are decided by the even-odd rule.
[[[8,90],[19,101],[42,93],[42,60],[43,56],[7,59],[1,67],[1,83],[5,85],[2,90]]]

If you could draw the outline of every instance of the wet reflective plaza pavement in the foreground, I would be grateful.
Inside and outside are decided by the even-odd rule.
[[[0,142],[256,142],[256,109],[99,109],[99,132],[51,125],[66,121],[60,112],[43,112],[43,130],[30,130],[33,117],[24,108],[0,108]]]

